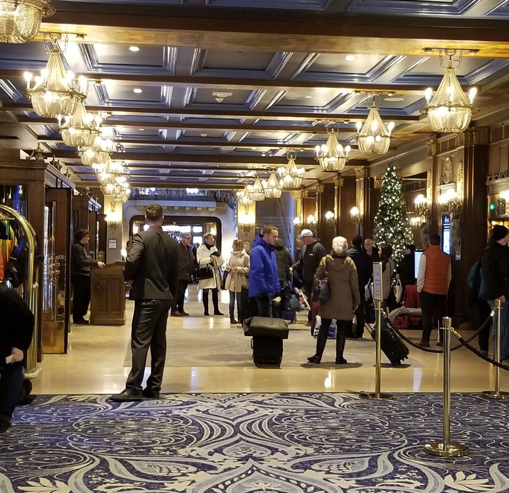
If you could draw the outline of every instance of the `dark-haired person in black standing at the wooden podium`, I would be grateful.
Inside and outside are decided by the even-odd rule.
[[[71,246],[71,282],[74,290],[72,299],[72,323],[87,325],[87,314],[90,303],[90,266],[97,265],[99,269],[104,268],[102,262],[92,258],[86,245],[90,240],[88,229],[78,229],[74,235],[74,243]]]

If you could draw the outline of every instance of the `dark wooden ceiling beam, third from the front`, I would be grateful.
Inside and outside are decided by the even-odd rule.
[[[423,94],[422,94],[422,97]],[[27,110],[32,111],[31,103],[13,103],[5,102],[0,111]],[[289,113],[280,111],[238,111],[238,110],[221,110],[221,109],[183,109],[183,108],[126,108],[125,106],[90,106],[87,105],[87,111],[106,112],[116,115],[132,115],[132,114],[161,114],[165,117],[192,117],[192,118],[233,118],[233,119],[261,119],[261,120],[282,120],[282,121],[334,121],[334,122],[362,122],[366,119],[365,115],[337,114],[337,113],[317,113],[309,111],[308,113]],[[401,115],[401,114],[383,114],[386,120],[394,122],[416,122],[419,121],[419,115]]]

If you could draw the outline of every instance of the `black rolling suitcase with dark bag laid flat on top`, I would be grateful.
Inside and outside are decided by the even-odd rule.
[[[244,335],[252,337],[253,362],[259,365],[281,365],[283,339],[288,339],[288,322],[281,318],[253,316],[243,322]]]

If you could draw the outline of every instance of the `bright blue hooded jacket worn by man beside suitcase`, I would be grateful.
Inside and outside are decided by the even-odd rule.
[[[275,247],[261,235],[254,238],[249,265],[249,298],[261,294],[274,296],[279,291]]]

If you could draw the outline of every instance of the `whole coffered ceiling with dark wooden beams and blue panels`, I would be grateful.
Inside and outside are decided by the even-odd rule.
[[[334,121],[352,146],[348,167],[376,162],[355,146],[369,93],[393,121],[396,155],[434,134],[423,91],[443,71],[425,47],[478,49],[457,70],[478,89],[473,125],[509,118],[507,0],[110,0],[52,2],[41,32],[68,32],[65,62],[93,79],[86,106],[106,112],[104,137],[129,168],[132,186],[241,187],[286,164],[307,170],[304,185],[330,177],[314,160]],[[83,35],[77,39],[74,33]],[[81,37],[80,37],[81,38]],[[64,41],[59,43],[64,49]],[[135,47],[135,48],[134,48]],[[65,161],[95,182],[54,119],[24,96],[23,72],[47,61],[43,35],[0,44],[0,148]],[[133,51],[137,48],[136,51]],[[379,159],[379,158],[378,158]]]

